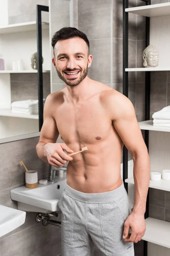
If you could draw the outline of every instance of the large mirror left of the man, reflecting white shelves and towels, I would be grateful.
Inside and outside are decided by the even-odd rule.
[[[52,65],[51,37],[63,26],[70,26],[70,1],[56,2],[46,3],[46,6],[51,5],[51,12],[55,15],[41,12],[43,99],[65,87],[63,81],[58,77],[56,79],[56,70]],[[23,138],[25,135],[27,138],[40,134],[38,76],[33,55],[37,52],[36,3],[26,4],[28,9],[25,6],[22,15],[19,13],[21,3],[17,5],[14,8],[12,0],[0,4],[0,143],[17,140],[17,136]],[[65,9],[65,17],[60,15],[61,8]],[[31,65],[31,56],[34,65]]]

